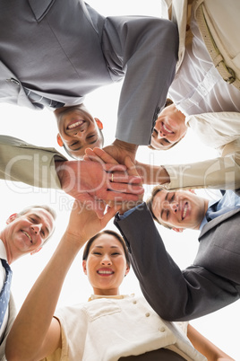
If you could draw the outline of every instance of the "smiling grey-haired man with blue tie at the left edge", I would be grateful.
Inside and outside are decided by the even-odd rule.
[[[14,213],[6,221],[5,228],[0,231],[0,358],[4,357],[4,343],[16,316],[13,296],[4,300],[4,283],[11,284],[12,271],[8,273],[9,265],[25,254],[34,254],[42,248],[54,232],[56,214],[47,206],[33,206]],[[10,277],[10,278],[8,278]],[[3,304],[7,303],[6,309]]]

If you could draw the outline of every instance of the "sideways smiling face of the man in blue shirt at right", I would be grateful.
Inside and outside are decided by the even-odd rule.
[[[206,199],[184,190],[162,189],[152,202],[152,211],[159,223],[177,229],[199,229],[206,207]]]

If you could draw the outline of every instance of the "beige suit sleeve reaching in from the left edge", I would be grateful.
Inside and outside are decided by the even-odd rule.
[[[0,179],[22,181],[38,188],[61,189],[55,162],[66,161],[54,148],[30,145],[11,136],[0,136]]]

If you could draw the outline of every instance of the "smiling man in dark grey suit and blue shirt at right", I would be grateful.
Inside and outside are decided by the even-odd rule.
[[[163,219],[176,228],[201,230],[196,257],[186,269],[179,269],[167,253],[145,203],[132,213],[116,215],[115,225],[130,251],[141,291],[163,319],[189,321],[239,299],[239,190],[227,189],[222,198],[208,204],[205,213],[204,198],[197,200],[191,193],[160,190],[155,194],[153,212],[160,223]],[[158,194],[159,201],[155,200]]]

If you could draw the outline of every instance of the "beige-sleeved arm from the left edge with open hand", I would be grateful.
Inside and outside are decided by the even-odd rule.
[[[24,143],[10,136],[0,136],[0,177],[6,181],[23,181],[34,187],[63,189],[82,203],[88,203],[99,216],[100,200],[137,200],[143,192],[139,177],[115,177],[124,165],[67,161],[54,148]],[[130,184],[128,184],[130,183]]]

